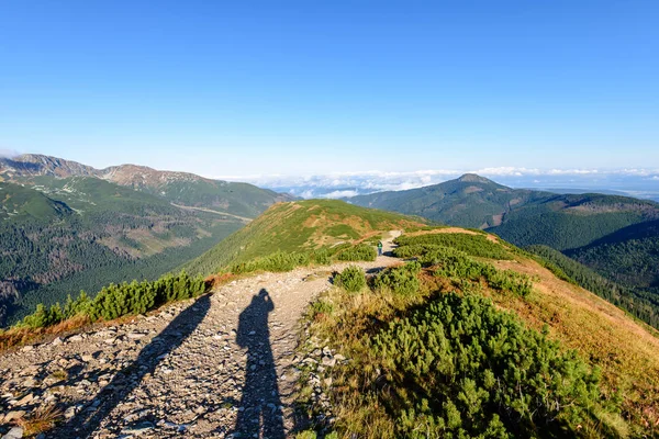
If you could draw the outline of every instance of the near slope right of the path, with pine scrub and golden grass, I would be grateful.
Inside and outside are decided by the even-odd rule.
[[[331,372],[312,364],[301,381],[311,416],[327,409],[315,402],[314,383],[332,383],[323,389],[336,419],[316,417],[319,430],[365,438],[659,432],[657,331],[491,235],[444,228],[396,241],[394,254],[415,261],[369,278],[368,288],[337,286],[310,307],[311,338],[349,359]],[[355,277],[364,272],[339,275]]]

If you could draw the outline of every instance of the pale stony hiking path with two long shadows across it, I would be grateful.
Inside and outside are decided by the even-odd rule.
[[[148,317],[5,353],[0,432],[57,404],[65,421],[44,437],[289,437],[297,324],[346,266],[256,274]],[[332,353],[323,356],[331,367]]]

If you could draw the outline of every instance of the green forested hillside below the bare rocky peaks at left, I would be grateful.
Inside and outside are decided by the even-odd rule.
[[[81,289],[156,278],[244,225],[96,178],[0,183],[0,324]]]

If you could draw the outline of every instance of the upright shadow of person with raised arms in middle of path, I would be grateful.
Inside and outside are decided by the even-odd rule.
[[[268,329],[268,314],[273,309],[272,299],[261,289],[252,297],[252,303],[241,313],[238,319],[236,344],[247,348],[247,364],[234,437],[286,437]]]

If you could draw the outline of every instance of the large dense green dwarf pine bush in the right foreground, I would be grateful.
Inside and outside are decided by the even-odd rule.
[[[445,294],[371,344],[395,436],[579,436],[599,374],[482,297]]]

